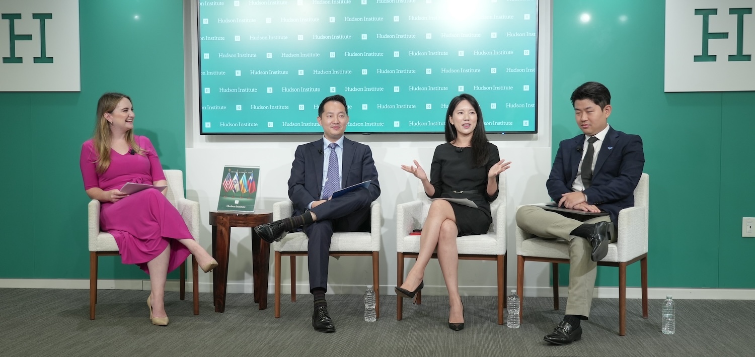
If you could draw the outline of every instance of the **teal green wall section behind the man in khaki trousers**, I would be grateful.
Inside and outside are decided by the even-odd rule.
[[[755,92],[664,93],[664,19],[658,0],[553,2],[553,153],[580,133],[574,88],[602,82],[612,94],[609,124],[644,141],[649,285],[755,288],[755,239],[741,237],[741,217],[755,217]],[[617,275],[600,267],[596,285],[618,285]],[[639,286],[639,264],[627,285]]]

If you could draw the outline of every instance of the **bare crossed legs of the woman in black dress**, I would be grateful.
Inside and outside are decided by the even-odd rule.
[[[451,204],[445,200],[437,200],[430,205],[427,219],[422,227],[420,236],[420,251],[417,263],[409,270],[401,288],[414,291],[422,282],[425,268],[433,253],[438,254],[438,263],[448,289],[449,322],[464,322],[464,311],[461,306],[458,285],[459,256],[456,247],[456,215]]]

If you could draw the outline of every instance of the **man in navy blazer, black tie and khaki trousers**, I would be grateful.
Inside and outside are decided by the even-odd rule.
[[[590,316],[597,263],[616,236],[618,212],[633,207],[634,189],[643,174],[643,140],[608,125],[611,93],[587,82],[572,93],[577,125],[584,134],[559,144],[546,186],[559,206],[609,215],[560,214],[536,206],[516,211],[516,224],[545,239],[569,242],[569,300],[562,322],[544,337],[565,345],[582,336],[581,320]],[[554,277],[554,279],[556,279]]]

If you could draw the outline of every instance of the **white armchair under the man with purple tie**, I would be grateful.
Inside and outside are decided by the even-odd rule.
[[[273,220],[291,217],[294,205],[291,201],[273,204]],[[370,232],[335,232],[331,239],[331,257],[372,257],[372,285],[375,291],[375,314],[380,318],[380,269],[381,205],[373,201],[370,208]],[[281,316],[281,256],[291,257],[291,301],[296,301],[296,257],[307,256],[307,235],[304,232],[288,233],[279,242],[273,243],[276,264],[276,318]]]

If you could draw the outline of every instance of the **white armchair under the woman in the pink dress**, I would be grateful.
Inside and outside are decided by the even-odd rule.
[[[199,202],[190,201],[183,196],[183,172],[180,170],[164,170],[168,180],[168,192],[165,196],[174,205],[186,222],[192,236],[199,237]],[[89,319],[94,320],[94,309],[97,304],[97,261],[106,255],[119,255],[116,239],[112,234],[100,231],[100,202],[93,199],[89,202]],[[199,315],[199,266],[192,257],[194,315]],[[186,262],[180,268],[180,299],[183,300],[186,290]]]

